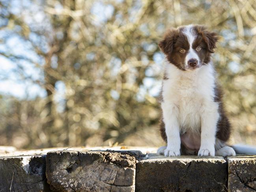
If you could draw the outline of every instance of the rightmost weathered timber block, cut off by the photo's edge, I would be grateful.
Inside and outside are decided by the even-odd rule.
[[[256,191],[256,156],[228,157],[228,191]]]

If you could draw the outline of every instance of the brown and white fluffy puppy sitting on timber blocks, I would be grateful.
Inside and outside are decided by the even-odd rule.
[[[160,41],[165,56],[161,90],[161,135],[165,156],[256,154],[243,145],[228,146],[230,123],[222,103],[211,54],[219,37],[205,26],[172,28]],[[235,150],[234,150],[235,149]]]

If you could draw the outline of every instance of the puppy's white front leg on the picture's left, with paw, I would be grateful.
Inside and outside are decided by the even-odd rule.
[[[165,132],[167,136],[167,147],[164,150],[164,156],[180,155],[180,136],[178,124],[178,108],[171,103],[162,103],[163,120],[165,124]]]

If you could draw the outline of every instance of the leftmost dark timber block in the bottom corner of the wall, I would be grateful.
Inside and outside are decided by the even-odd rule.
[[[45,156],[0,158],[0,192],[49,191]]]

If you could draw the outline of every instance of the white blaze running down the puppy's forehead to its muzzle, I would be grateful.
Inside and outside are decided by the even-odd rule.
[[[196,50],[194,50],[192,48],[193,42],[196,39],[196,34],[192,29],[192,25],[189,25],[185,28],[185,30],[183,31],[183,34],[185,34],[187,36],[187,39],[189,41],[189,50],[187,52],[187,56],[185,58],[185,66],[188,66],[188,61],[190,59],[196,59],[198,60],[198,63],[200,63],[198,54],[196,53]]]

